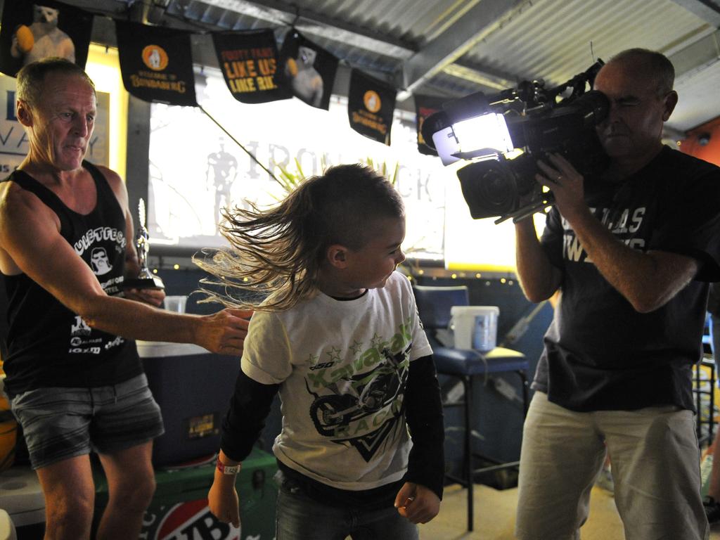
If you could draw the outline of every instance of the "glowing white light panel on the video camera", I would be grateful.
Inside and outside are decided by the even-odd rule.
[[[490,156],[513,150],[508,125],[502,114],[482,114],[452,125],[463,157]]]

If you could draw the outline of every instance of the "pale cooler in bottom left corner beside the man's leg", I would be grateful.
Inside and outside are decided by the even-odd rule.
[[[15,465],[0,473],[0,508],[12,520],[18,540],[42,540],[45,497],[30,466]]]

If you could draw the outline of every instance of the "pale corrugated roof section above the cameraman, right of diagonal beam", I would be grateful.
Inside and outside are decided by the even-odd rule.
[[[670,0],[528,1],[463,60],[561,84],[597,58],[632,47],[663,51],[701,32],[708,24]]]

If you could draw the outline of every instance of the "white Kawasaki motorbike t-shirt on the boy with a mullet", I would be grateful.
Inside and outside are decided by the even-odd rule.
[[[256,312],[241,366],[281,384],[287,467],[342,490],[401,480],[410,436],[403,398],[410,361],[432,354],[408,279],[395,272],[356,300],[318,294],[292,310]]]

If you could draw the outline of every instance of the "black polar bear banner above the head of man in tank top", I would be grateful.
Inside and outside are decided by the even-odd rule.
[[[92,18],[53,0],[6,0],[0,23],[0,71],[14,77],[22,66],[49,56],[85,68]]]

